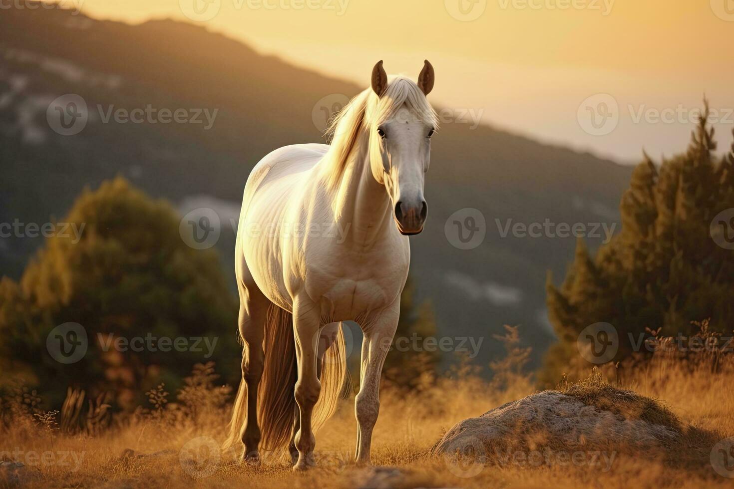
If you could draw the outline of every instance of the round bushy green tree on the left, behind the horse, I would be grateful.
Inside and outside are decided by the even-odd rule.
[[[48,238],[19,283],[0,282],[2,378],[23,378],[53,405],[76,386],[90,395],[112,391],[123,408],[138,405],[161,380],[175,388],[197,362],[217,361],[230,374],[226,380],[239,378],[236,301],[217,255],[186,246],[167,202],[117,178],[85,190],[65,222],[81,229],[78,242],[71,232]],[[54,359],[47,346],[51,331],[65,323],[79,323],[87,334],[86,354],[71,364]],[[148,335],[185,338],[186,347],[149,348]],[[142,351],[111,343],[135,337],[146,341]],[[205,358],[206,344],[195,346],[192,337],[210,345],[217,338],[214,354]]]

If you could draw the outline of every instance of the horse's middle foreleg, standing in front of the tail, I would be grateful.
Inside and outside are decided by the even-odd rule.
[[[313,436],[311,416],[313,406],[319,400],[321,392],[317,367],[320,320],[321,315],[316,304],[308,299],[294,301],[293,328],[298,360],[298,380],[294,394],[300,414],[300,427],[294,439],[298,450],[294,471],[302,471],[316,465],[313,458],[316,438]]]

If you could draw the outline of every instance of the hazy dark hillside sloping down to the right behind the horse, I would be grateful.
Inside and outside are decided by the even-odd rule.
[[[217,210],[224,224],[217,247],[232,280],[228,219],[239,212],[252,166],[276,147],[322,141],[322,127],[312,120],[322,109],[317,102],[341,94],[322,102],[332,108],[363,88],[187,23],[131,26],[64,10],[0,15],[0,222],[61,218],[84,186],[122,174],[182,213]],[[46,110],[70,93],[87,103],[89,122],[81,133],[61,136]],[[218,112],[205,130],[203,124],[104,123],[98,105],[103,114],[110,106],[149,105]],[[528,114],[528,132],[532,121]],[[432,145],[426,230],[411,238],[418,296],[432,301],[441,334],[488,336],[478,357],[486,363],[500,349],[490,334],[503,323],[520,324],[526,342],[542,353],[553,341],[545,274],[565,271],[575,238],[502,238],[495,219],[501,228],[508,219],[546,218],[611,226],[630,174],[612,161],[495,128],[444,124]],[[464,207],[486,218],[487,235],[476,249],[457,249],[444,233],[447,218]],[[17,278],[39,245],[40,238],[0,238],[0,271]]]

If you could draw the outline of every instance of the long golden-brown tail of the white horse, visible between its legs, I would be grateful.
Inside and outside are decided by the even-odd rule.
[[[258,388],[261,449],[275,450],[287,446],[291,438],[297,408],[294,389],[298,378],[293,316],[275,304],[271,304],[267,313],[263,350],[265,361]],[[313,410],[314,430],[334,413],[339,397],[347,387],[345,350],[340,324],[337,338],[321,363],[321,394]],[[223,449],[241,444],[240,433],[245,422],[247,386],[241,380]]]

